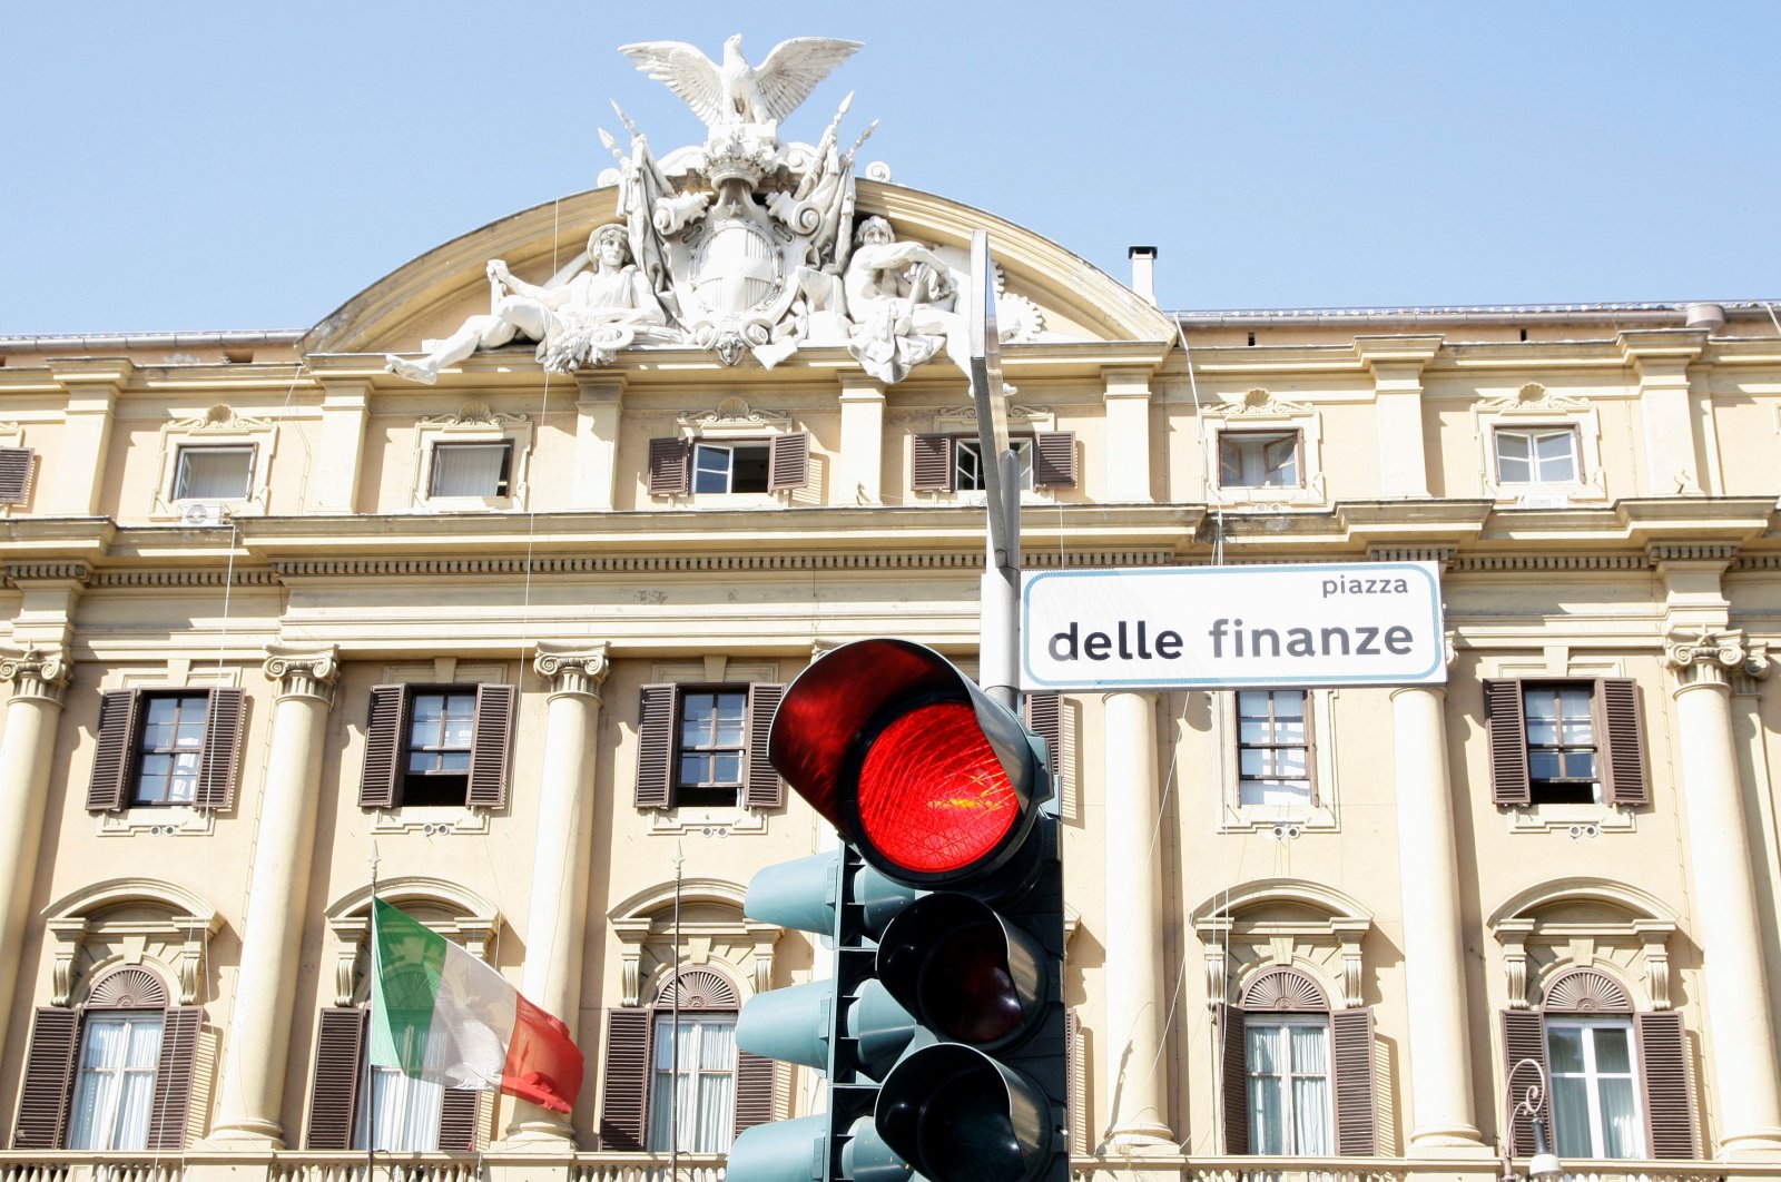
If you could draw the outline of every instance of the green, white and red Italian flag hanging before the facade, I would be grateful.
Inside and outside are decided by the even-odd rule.
[[[370,1061],[411,1079],[575,1107],[582,1059],[568,1027],[499,972],[383,899],[372,901]]]

